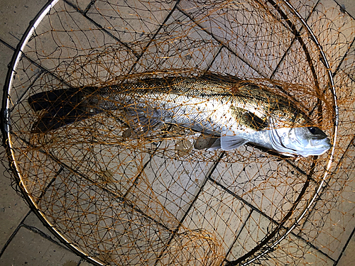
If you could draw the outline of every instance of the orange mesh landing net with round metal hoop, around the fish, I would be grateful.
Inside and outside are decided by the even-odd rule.
[[[10,170],[43,223],[97,265],[337,260],[350,229],[334,219],[350,221],[352,210],[340,192],[351,192],[354,169],[354,22],[340,6],[290,2],[45,6],[13,59],[3,128]],[[155,81],[143,86],[149,93],[162,80],[222,77],[287,99],[332,148],[308,157],[250,143],[208,150],[216,135],[143,121],[152,109],[110,98],[112,88],[129,87],[127,97],[142,80]],[[92,101],[83,107],[83,99]],[[275,105],[269,100],[266,109]],[[102,101],[120,107],[97,109]],[[62,113],[67,120],[53,126]],[[265,122],[249,118],[254,126]],[[332,239],[322,238],[330,231]]]

